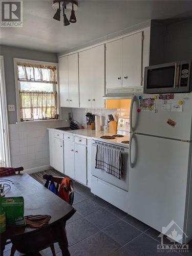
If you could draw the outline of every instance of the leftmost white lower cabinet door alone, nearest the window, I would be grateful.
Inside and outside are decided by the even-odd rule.
[[[60,173],[64,173],[63,169],[63,140],[53,138],[52,148],[52,166]]]

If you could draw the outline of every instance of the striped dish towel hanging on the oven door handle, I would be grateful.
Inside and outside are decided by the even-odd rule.
[[[115,148],[97,145],[95,168],[121,179],[123,174],[123,153]]]

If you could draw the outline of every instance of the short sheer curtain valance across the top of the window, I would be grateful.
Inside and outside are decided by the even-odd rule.
[[[17,62],[18,80],[21,82],[57,83],[55,66],[30,65]]]

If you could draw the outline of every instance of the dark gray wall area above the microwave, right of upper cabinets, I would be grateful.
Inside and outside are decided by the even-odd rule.
[[[172,24],[152,20],[150,65],[192,59],[192,19]]]

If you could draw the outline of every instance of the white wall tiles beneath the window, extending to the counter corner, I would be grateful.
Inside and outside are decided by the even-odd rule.
[[[23,166],[24,169],[49,165],[48,127],[69,126],[68,113],[71,109],[63,108],[63,120],[49,120],[9,124],[11,166]]]

